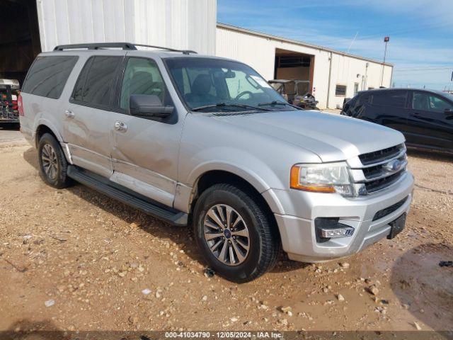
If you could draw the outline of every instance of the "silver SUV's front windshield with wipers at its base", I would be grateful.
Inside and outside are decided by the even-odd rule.
[[[294,110],[246,64],[198,57],[169,58],[165,62],[180,97],[191,110]]]

